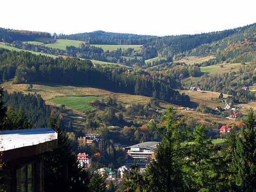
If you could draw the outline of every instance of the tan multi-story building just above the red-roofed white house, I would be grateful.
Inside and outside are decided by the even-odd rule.
[[[95,143],[101,152],[104,151],[104,138],[102,138],[101,135],[89,134],[85,135],[85,137],[79,137],[77,140],[78,142],[85,143],[87,146],[91,146],[92,143]]]

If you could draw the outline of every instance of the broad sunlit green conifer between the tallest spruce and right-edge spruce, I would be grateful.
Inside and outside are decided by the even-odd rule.
[[[205,140],[207,128],[203,125],[195,127],[194,142],[187,145],[187,164],[183,166],[186,191],[189,192],[229,192],[227,179],[228,165],[222,155],[221,146],[212,144],[212,139]]]

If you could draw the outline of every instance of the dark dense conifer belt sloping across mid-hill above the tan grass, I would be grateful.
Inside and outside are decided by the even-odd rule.
[[[89,60],[77,58],[51,58],[0,49],[0,77],[3,81],[14,78],[13,83],[52,82],[82,86],[97,86],[102,89],[130,94],[154,96],[171,103],[189,105],[189,97],[175,91],[175,81],[163,81],[128,72],[119,66],[92,66]],[[157,94],[158,93],[158,94]]]

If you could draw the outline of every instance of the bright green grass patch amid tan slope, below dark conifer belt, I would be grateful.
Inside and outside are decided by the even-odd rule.
[[[55,97],[53,99],[50,99],[48,101],[60,104],[60,105],[65,105],[66,107],[69,107],[73,110],[77,110],[79,112],[87,111],[90,110],[92,111],[93,108],[91,106],[87,105],[88,101],[93,101],[94,99],[100,99],[100,97],[95,97],[95,96],[87,96],[87,97],[75,97],[75,96],[70,96],[70,97]]]

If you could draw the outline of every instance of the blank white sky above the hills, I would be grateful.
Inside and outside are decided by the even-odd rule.
[[[200,34],[256,22],[256,0],[1,0],[0,27],[75,34]]]

